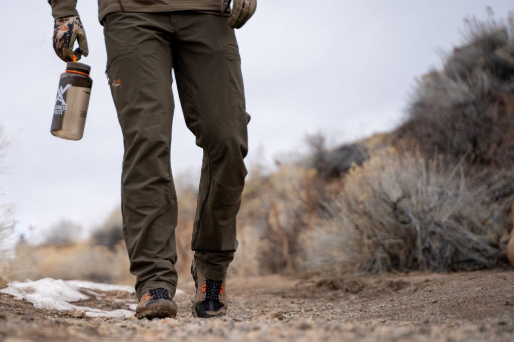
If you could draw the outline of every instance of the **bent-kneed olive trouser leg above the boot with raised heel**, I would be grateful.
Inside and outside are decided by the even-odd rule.
[[[225,279],[237,248],[236,214],[248,151],[241,59],[226,18],[172,13],[174,70],[188,128],[204,158],[191,247],[206,277]]]

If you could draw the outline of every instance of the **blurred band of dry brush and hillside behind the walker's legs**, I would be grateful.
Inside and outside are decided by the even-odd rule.
[[[466,44],[417,80],[395,130],[336,148],[310,135],[300,160],[272,172],[250,168],[230,275],[458,271],[505,262],[514,200],[514,15],[469,17],[465,26]],[[178,189],[181,275],[193,255],[196,195]],[[4,212],[6,242],[12,218]],[[20,239],[15,258],[0,244],[0,283],[50,276],[133,284],[120,211],[88,239],[80,231],[63,220],[38,246]]]

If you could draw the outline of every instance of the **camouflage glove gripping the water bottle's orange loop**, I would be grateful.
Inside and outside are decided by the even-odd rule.
[[[79,47],[74,51],[73,46],[77,39]],[[82,55],[88,55],[86,32],[78,15],[56,19],[56,24],[53,26],[53,49],[64,62],[72,62],[74,54],[77,61]]]

